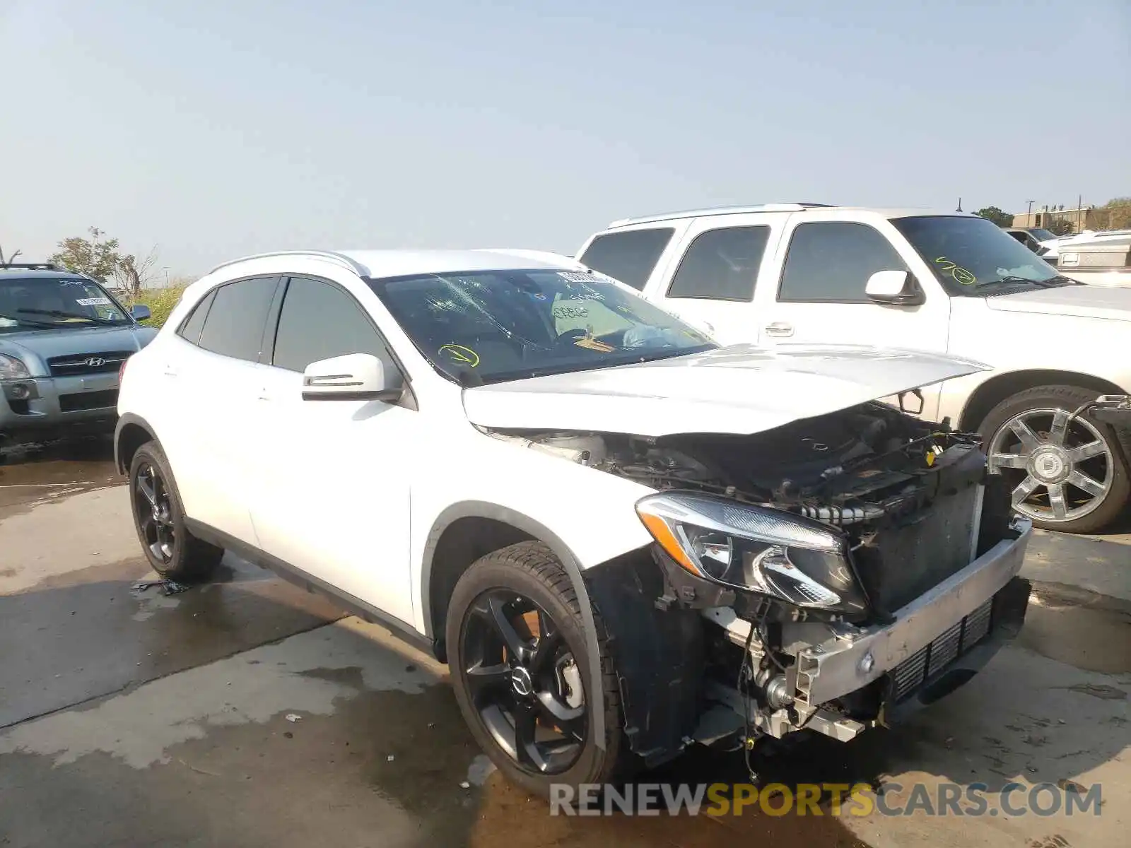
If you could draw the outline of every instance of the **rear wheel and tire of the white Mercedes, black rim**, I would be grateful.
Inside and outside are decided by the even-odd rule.
[[[185,529],[173,471],[156,442],[146,442],[135,451],[129,479],[133,527],[153,570],[178,582],[206,580],[219,564],[224,548]]]

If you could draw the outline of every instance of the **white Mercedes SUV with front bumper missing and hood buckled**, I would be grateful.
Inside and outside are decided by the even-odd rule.
[[[1028,519],[976,436],[877,400],[981,367],[719,347],[533,252],[278,253],[130,357],[116,461],[158,573],[227,550],[423,643],[550,795],[853,738],[1015,634]]]

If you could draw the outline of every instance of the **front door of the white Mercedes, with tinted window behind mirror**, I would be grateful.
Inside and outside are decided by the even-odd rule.
[[[412,622],[408,495],[420,415],[377,400],[303,400],[311,362],[366,353],[386,373],[398,370],[345,288],[312,277],[285,286],[256,408],[251,519],[260,547],[339,595]]]

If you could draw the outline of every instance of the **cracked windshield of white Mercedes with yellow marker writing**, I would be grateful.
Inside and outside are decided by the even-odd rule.
[[[717,347],[627,287],[588,272],[491,270],[370,285],[421,354],[455,380],[499,382]]]

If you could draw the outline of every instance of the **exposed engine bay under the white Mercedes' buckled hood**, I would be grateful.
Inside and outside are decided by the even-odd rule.
[[[491,434],[658,491],[698,490],[856,526],[860,538],[862,526],[932,502],[941,469],[983,465],[978,436],[878,401],[754,435]],[[982,471],[970,470],[981,482]]]

